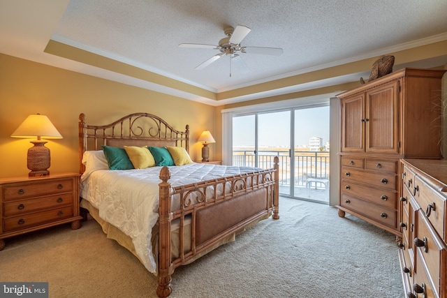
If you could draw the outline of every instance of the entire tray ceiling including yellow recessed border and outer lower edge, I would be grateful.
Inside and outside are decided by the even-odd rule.
[[[238,24],[251,28],[242,46],[284,54],[241,54],[250,71],[233,67],[230,77],[228,57],[194,70],[217,50],[178,47],[217,45]],[[210,105],[328,86],[334,94],[382,54],[424,45],[436,50],[411,52],[397,67],[446,65],[446,40],[446,0],[0,1],[3,54]]]

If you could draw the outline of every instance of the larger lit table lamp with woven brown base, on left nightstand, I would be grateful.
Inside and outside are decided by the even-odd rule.
[[[27,167],[29,177],[47,176],[50,174],[50,149],[45,147],[45,139],[61,139],[62,135],[57,131],[48,117],[41,114],[31,114],[15,130],[11,137],[37,138],[30,141],[34,147],[28,149]]]

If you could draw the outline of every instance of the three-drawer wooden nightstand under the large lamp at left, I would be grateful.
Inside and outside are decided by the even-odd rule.
[[[4,239],[71,223],[80,228],[79,174],[0,178],[0,251]]]

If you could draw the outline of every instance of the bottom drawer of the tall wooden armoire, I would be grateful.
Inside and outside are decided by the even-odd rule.
[[[397,228],[397,211],[395,209],[381,207],[371,202],[352,197],[346,193],[342,193],[340,205],[383,225],[387,225],[390,228]]]

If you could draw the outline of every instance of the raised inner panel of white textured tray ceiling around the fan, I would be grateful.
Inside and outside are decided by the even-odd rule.
[[[217,45],[223,28],[237,24],[251,28],[242,45],[282,47],[284,54],[242,54],[249,73],[233,68],[230,77],[228,57],[193,69],[217,50],[178,47]],[[222,91],[446,31],[446,0],[72,0],[53,38]]]

